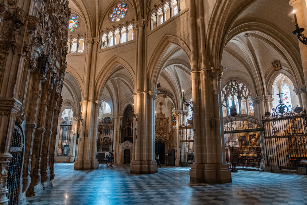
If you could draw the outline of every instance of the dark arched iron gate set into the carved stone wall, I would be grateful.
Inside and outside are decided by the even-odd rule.
[[[20,173],[22,167],[22,154],[23,154],[23,134],[21,128],[17,125],[14,126],[14,134],[11,145],[12,160],[8,166],[7,176],[7,198],[9,204],[17,204],[17,193],[19,187]]]

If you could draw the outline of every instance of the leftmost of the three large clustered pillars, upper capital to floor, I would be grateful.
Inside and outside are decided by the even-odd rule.
[[[95,72],[98,38],[85,39],[87,44],[87,57],[85,62],[84,92],[81,101],[80,135],[78,153],[74,169],[98,169],[96,158],[98,115],[101,101],[94,100]]]

